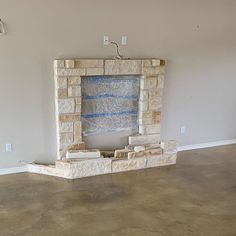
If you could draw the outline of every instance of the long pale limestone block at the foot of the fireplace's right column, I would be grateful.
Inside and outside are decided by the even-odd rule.
[[[129,136],[129,145],[156,144],[160,142],[160,134],[133,135]]]

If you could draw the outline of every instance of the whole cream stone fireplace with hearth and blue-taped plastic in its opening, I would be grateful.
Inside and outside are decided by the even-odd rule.
[[[160,59],[55,60],[58,160],[29,170],[73,179],[175,164],[176,142],[160,140],[164,74]],[[134,131],[126,147],[86,147],[86,135],[122,129]]]

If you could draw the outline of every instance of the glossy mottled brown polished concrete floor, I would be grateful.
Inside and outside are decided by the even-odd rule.
[[[0,236],[235,236],[236,145],[177,165],[68,181],[0,177]]]

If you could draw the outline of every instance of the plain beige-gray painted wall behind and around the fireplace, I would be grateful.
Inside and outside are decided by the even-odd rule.
[[[0,0],[0,17],[0,168],[56,158],[53,59],[111,57],[103,35],[128,35],[129,57],[168,60],[163,139],[236,138],[236,1]]]

